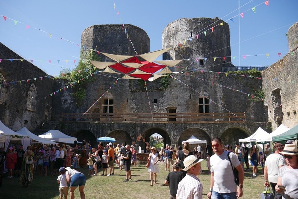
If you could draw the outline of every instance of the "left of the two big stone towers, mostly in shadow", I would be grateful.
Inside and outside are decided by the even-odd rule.
[[[117,55],[136,55],[135,50],[138,54],[149,52],[150,39],[143,29],[130,24],[124,25],[123,29],[122,27],[122,24],[115,24],[92,25],[86,28],[82,33],[81,58],[86,57],[90,48]],[[135,50],[127,38],[127,34],[134,44]],[[101,53],[98,56],[101,57],[101,61],[110,60]]]

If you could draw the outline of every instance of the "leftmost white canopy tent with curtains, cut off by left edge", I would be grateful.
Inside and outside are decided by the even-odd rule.
[[[28,140],[30,140],[29,136],[25,136],[25,135],[22,135],[20,133],[17,133],[15,131],[11,130],[10,128],[5,126],[1,121],[0,121],[0,134],[5,136],[5,141],[0,142],[0,147],[3,147],[4,143],[7,143],[7,144],[5,144],[5,147],[4,147],[5,151],[7,151],[9,142],[11,140],[20,140],[22,143],[28,142]]]

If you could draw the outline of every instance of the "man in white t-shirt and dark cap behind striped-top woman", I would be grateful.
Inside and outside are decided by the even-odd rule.
[[[274,144],[274,153],[267,157],[264,165],[264,185],[271,186],[273,190],[274,199],[281,199],[282,194],[275,191],[275,185],[278,180],[278,170],[286,165],[285,159],[279,152],[283,151],[284,146],[281,143],[276,142]]]

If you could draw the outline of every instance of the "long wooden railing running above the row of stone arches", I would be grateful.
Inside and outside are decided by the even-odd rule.
[[[62,113],[61,122],[242,123],[242,113]]]

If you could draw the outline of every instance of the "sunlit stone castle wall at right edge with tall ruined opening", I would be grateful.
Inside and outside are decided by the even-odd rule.
[[[262,73],[265,102],[273,129],[298,123],[298,23],[287,33],[290,52]],[[297,111],[297,113],[296,113]]]

